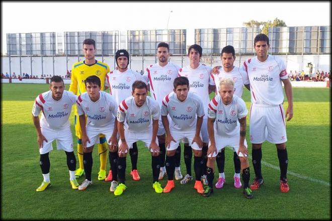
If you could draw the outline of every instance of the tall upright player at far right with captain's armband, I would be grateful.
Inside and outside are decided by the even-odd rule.
[[[242,69],[250,80],[252,106],[250,110],[250,140],[253,144],[253,165],[255,181],[251,189],[258,189],[264,183],[261,160],[262,143],[268,140],[276,144],[280,166],[280,190],[288,192],[287,182],[288,156],[286,150],[286,122],[293,118],[293,92],[292,84],[288,79],[286,65],[279,57],[269,55],[269,38],[259,34],[254,39],[254,48],[257,56],[243,62]],[[284,93],[282,83],[288,100],[286,115],[283,102]],[[264,131],[267,129],[268,135]]]

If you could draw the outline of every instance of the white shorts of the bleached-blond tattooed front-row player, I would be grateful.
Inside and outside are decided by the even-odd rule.
[[[238,151],[239,142],[240,142],[240,135],[238,136],[232,136],[232,137],[221,137],[216,134],[214,134],[214,140],[216,143],[217,153],[221,152],[222,149],[224,149],[226,146],[230,146],[233,148],[234,152]],[[209,147],[211,146],[211,142],[209,142]],[[244,139],[244,146],[247,148],[248,145],[246,143],[246,140]],[[242,153],[237,154],[239,157],[244,157]],[[212,157],[216,157],[217,154],[213,153]],[[247,155],[245,155],[246,157]],[[209,154],[208,157],[211,157],[211,154]]]

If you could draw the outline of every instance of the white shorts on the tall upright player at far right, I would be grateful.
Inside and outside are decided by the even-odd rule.
[[[283,105],[252,104],[249,129],[253,144],[262,144],[266,140],[273,144],[285,143],[287,134]]]

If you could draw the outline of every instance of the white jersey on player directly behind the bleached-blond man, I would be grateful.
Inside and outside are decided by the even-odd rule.
[[[249,84],[249,79],[247,79],[246,72],[238,67],[234,67],[233,70],[225,72],[223,68],[219,69],[219,74],[211,73],[211,77],[216,85],[216,95],[219,94],[219,82],[223,78],[229,78],[234,81],[234,94],[236,96],[242,97],[243,85]],[[245,79],[245,82],[243,81]]]

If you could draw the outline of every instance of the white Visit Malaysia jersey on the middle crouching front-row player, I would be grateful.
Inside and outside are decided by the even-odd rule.
[[[133,96],[127,97],[118,107],[118,122],[127,122],[131,132],[149,131],[152,128],[152,120],[159,120],[160,107],[150,96],[141,107],[135,104]],[[126,127],[127,128],[127,127]]]

